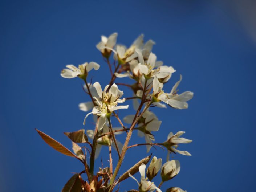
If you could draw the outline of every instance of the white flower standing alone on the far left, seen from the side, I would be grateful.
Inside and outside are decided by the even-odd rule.
[[[61,76],[64,78],[74,78],[74,77],[80,77],[80,78],[84,78],[87,76],[87,73],[94,69],[94,70],[98,70],[99,69],[99,64],[97,64],[96,62],[89,62],[89,63],[84,63],[82,65],[79,65],[78,68],[74,65],[66,65],[66,68],[68,69],[63,69],[61,71]]]

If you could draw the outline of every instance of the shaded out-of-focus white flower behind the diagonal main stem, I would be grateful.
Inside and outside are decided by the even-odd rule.
[[[125,123],[133,123],[134,115],[127,115],[123,118]],[[162,121],[159,121],[157,116],[149,111],[146,110],[142,117],[138,120],[138,136],[143,137],[145,136],[146,143],[152,143],[155,141],[154,136],[151,134],[151,131],[158,131]],[[150,151],[151,145],[146,145],[147,152]]]

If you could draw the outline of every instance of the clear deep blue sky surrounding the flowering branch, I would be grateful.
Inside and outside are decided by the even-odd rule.
[[[112,32],[126,45],[141,33],[152,38],[158,59],[177,70],[165,88],[182,74],[180,91],[194,92],[187,110],[154,109],[163,121],[157,141],[179,130],[193,140],[180,146],[192,156],[174,156],[181,171],[162,189],[255,190],[256,44],[232,3],[218,2],[1,1],[0,191],[61,191],[70,172],[83,169],[47,146],[34,128],[69,148],[62,132],[93,128],[82,125],[85,113],[78,110],[78,103],[89,100],[81,80],[64,79],[60,71],[95,61],[101,68],[93,81],[105,85],[110,76],[95,45],[101,34]],[[133,136],[133,143],[141,142]],[[151,152],[166,158],[166,151]],[[128,151],[120,173],[146,155],[144,146]],[[121,191],[128,186],[137,188],[127,179]]]

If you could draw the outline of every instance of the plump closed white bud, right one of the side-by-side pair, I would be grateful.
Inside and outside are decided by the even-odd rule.
[[[178,175],[180,171],[180,163],[178,160],[171,160],[163,164],[161,168],[162,181],[168,181]]]

